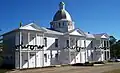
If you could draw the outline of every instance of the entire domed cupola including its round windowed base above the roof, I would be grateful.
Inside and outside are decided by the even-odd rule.
[[[60,32],[68,32],[74,29],[74,22],[70,14],[65,10],[64,2],[60,2],[59,10],[54,15],[53,21],[50,24],[52,29]]]

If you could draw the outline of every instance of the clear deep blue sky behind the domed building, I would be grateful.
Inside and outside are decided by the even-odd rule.
[[[77,28],[120,39],[120,0],[0,0],[0,34],[19,27],[20,21],[49,27],[60,1]]]

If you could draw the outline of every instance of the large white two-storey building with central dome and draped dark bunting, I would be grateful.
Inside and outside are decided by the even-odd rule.
[[[30,23],[3,34],[4,63],[23,69],[110,58],[109,36],[76,29],[64,2],[50,25],[44,28]]]

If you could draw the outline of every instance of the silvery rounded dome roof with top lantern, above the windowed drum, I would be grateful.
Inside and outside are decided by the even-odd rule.
[[[58,20],[72,21],[70,14],[65,10],[64,2],[60,2],[59,10],[56,12],[55,16],[53,17],[53,21],[58,21]]]

